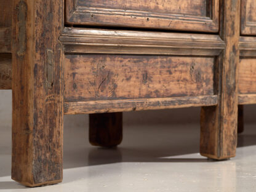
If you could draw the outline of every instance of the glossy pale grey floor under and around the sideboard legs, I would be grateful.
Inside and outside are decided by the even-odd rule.
[[[217,162],[198,154],[199,124],[124,124],[110,150],[90,146],[86,118],[65,117],[63,182],[37,188],[10,179],[10,124],[2,126],[0,191],[256,191],[256,124],[239,135],[236,158]]]

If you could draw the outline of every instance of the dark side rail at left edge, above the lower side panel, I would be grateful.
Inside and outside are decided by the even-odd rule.
[[[10,27],[0,28],[0,53],[11,52],[11,34],[12,29]]]

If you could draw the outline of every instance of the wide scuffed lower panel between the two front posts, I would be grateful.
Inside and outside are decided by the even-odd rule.
[[[214,94],[214,58],[66,55],[65,102]]]

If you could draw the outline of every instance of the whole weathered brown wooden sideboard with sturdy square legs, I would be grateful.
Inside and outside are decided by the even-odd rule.
[[[0,89],[12,89],[17,182],[62,181],[64,114],[90,114],[90,143],[111,147],[122,140],[122,111],[201,106],[200,153],[236,155],[238,105],[241,130],[242,105],[256,103],[254,1],[0,5]]]

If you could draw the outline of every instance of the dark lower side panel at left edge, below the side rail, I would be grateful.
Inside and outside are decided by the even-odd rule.
[[[11,54],[0,54],[0,89],[12,89]]]

